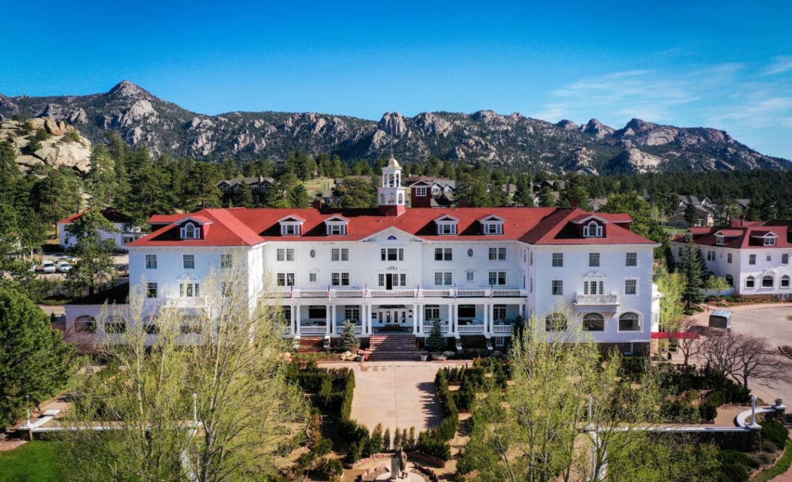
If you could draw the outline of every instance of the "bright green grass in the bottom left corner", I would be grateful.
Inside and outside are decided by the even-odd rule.
[[[0,482],[63,480],[63,442],[34,440],[14,450],[0,452]]]

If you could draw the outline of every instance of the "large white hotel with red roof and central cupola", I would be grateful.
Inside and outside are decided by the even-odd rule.
[[[645,353],[657,331],[653,248],[625,214],[577,208],[406,207],[402,169],[383,168],[377,209],[204,209],[154,216],[127,245],[150,306],[202,309],[211,272],[241,262],[251,298],[284,307],[284,336],[332,340],[394,327],[421,339],[433,320],[456,339],[508,342],[517,317],[571,307],[603,345]],[[67,330],[103,336],[100,305],[67,306]],[[386,328],[388,327],[388,328]],[[83,335],[84,336],[84,335]]]

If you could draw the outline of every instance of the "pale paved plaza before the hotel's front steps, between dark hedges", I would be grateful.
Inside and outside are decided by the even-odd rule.
[[[415,427],[416,433],[440,423],[435,374],[438,362],[322,363],[328,368],[355,370],[352,418],[369,430],[377,423],[391,434]]]

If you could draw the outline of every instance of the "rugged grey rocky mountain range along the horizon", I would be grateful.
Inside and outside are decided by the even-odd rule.
[[[154,154],[204,161],[232,157],[284,159],[290,152],[326,152],[343,159],[484,161],[519,170],[584,174],[684,170],[792,169],[792,162],[760,154],[725,131],[674,127],[633,119],[616,129],[596,119],[549,123],[520,113],[387,112],[379,122],[312,112],[227,112],[205,116],[163,101],[124,81],[85,96],[6,97],[0,120],[47,117],[77,127],[91,142],[114,130]]]

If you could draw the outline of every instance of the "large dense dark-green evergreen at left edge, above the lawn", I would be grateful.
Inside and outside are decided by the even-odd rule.
[[[29,298],[0,287],[0,427],[47,400],[70,376],[72,347]]]

